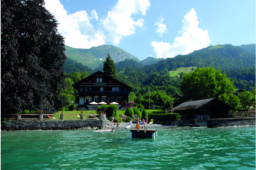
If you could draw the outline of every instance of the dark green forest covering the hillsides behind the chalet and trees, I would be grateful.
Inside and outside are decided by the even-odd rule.
[[[181,77],[172,77],[170,71],[180,67],[212,67],[222,70],[227,78],[234,81],[236,88],[251,91],[255,89],[255,53],[254,45],[232,46],[230,44],[208,46],[187,55],[177,55],[174,58],[159,59],[157,63],[144,65],[132,59],[115,63],[117,80],[133,87],[136,96],[151,92],[162,92],[166,95],[182,95]],[[102,70],[98,68],[97,70]],[[85,73],[88,75],[97,71],[82,64],[67,59],[64,72],[73,83],[81,80]],[[75,72],[81,78],[75,78]],[[181,74],[184,73],[179,73]]]

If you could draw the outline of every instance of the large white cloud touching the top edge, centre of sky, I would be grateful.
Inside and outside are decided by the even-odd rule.
[[[133,14],[146,14],[149,9],[148,0],[119,0],[108,12],[108,15],[101,19],[101,24],[107,32],[106,39],[117,45],[123,36],[135,33],[136,27],[143,26],[143,18],[134,21]]]

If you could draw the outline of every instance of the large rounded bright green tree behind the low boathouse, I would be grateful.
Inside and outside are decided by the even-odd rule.
[[[186,100],[200,100],[232,94],[235,86],[226,74],[214,68],[197,68],[182,76],[181,91]]]

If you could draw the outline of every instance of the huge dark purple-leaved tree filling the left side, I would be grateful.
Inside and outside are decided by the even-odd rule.
[[[65,105],[65,45],[43,0],[1,0],[1,113]]]

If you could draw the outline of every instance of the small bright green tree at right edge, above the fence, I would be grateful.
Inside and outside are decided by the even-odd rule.
[[[255,90],[241,92],[238,97],[246,111],[248,111],[252,105],[255,105]]]

